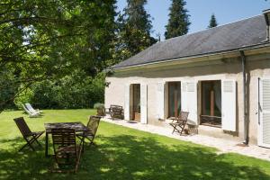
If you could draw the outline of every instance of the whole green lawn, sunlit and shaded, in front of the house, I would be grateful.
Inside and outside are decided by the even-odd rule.
[[[44,122],[83,121],[94,110],[47,110],[41,118],[25,118],[31,130]],[[0,179],[270,179],[270,162],[238,154],[216,154],[178,139],[101,122],[97,147],[87,147],[77,174],[51,174],[51,157],[44,147],[18,153],[23,139],[13,118],[23,112],[0,114]],[[40,140],[44,145],[44,136]]]

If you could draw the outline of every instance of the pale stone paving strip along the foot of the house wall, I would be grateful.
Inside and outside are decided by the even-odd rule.
[[[124,127],[129,127],[135,130],[143,130],[174,139],[181,139],[184,141],[190,141],[196,144],[201,144],[212,148],[218,148],[219,149],[219,151],[217,151],[218,154],[234,152],[248,157],[257,157],[270,161],[270,148],[261,148],[253,144],[249,144],[247,147],[242,147],[238,146],[238,144],[240,143],[238,141],[214,138],[201,134],[179,136],[177,133],[172,134],[173,130],[172,127],[169,128],[158,127],[149,124],[141,124],[137,121],[123,121],[123,120],[112,121],[112,119],[110,119],[109,117],[105,117],[102,120],[113,124],[121,125]]]

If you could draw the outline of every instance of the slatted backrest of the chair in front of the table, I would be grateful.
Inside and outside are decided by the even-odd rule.
[[[67,146],[70,146],[68,150],[72,151],[74,150],[74,152],[76,152],[76,133],[74,129],[70,128],[52,129],[51,137],[55,153],[57,152],[58,148],[64,148]]]

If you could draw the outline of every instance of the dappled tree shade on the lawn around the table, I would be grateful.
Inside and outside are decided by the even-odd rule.
[[[155,138],[131,135],[97,137],[87,147],[78,173],[50,174],[53,159],[44,150],[17,149],[23,140],[0,139],[0,179],[270,179],[257,166],[236,166],[226,155],[195,146],[166,146]]]

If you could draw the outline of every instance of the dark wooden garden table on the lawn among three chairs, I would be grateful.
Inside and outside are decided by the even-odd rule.
[[[48,144],[49,144],[49,134],[52,129],[60,128],[70,128],[74,129],[76,132],[87,131],[87,127],[82,122],[56,122],[56,123],[44,123],[46,139],[45,139],[45,157],[49,157],[48,154]]]

